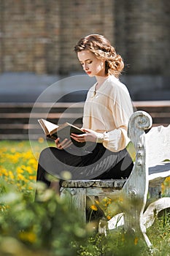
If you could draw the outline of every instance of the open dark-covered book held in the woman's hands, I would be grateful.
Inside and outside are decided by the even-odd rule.
[[[45,119],[38,119],[39,124],[41,125],[43,131],[45,132],[45,135],[47,138],[51,138],[53,140],[56,140],[57,138],[60,138],[61,140],[68,138],[71,139],[75,146],[82,147],[85,146],[85,143],[79,143],[76,140],[73,140],[70,138],[71,133],[75,133],[77,135],[84,134],[85,132],[82,132],[82,130],[78,127],[75,127],[73,124],[64,123],[64,124],[53,124],[50,121],[47,121]]]

